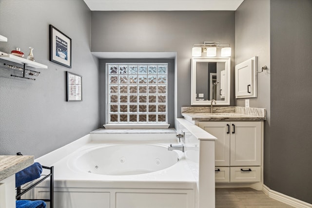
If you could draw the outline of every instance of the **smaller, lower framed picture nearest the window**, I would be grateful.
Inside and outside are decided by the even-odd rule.
[[[66,101],[82,101],[82,76],[66,72]]]

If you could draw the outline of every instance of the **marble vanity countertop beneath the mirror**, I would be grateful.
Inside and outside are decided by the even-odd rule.
[[[263,121],[266,120],[266,110],[262,108],[245,107],[182,107],[181,114],[188,121]]]

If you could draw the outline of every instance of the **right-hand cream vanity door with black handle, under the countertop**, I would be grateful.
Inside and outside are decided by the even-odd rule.
[[[231,166],[261,165],[261,121],[231,122]]]

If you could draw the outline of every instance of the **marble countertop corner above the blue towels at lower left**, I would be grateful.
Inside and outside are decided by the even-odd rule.
[[[32,155],[0,155],[0,181],[34,163]]]

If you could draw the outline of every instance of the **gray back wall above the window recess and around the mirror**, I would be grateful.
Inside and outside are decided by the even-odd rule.
[[[233,48],[234,11],[92,12],[92,52],[177,52],[177,117],[191,104],[191,57],[194,43],[220,41]],[[231,104],[234,91],[231,89]]]

